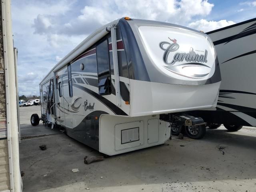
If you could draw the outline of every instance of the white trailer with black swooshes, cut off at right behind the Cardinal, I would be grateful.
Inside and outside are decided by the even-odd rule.
[[[213,41],[222,82],[216,108],[191,114],[210,127],[230,131],[256,126],[256,18],[207,33]]]

